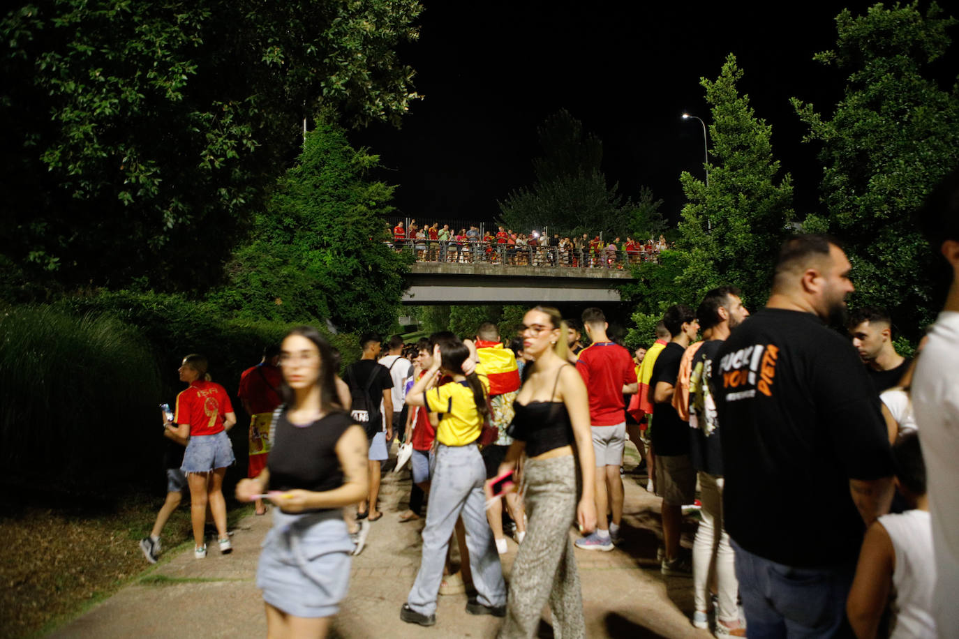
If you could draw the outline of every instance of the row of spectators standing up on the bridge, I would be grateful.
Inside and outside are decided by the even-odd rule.
[[[471,225],[457,232],[449,224],[419,226],[415,219],[397,222],[392,230],[392,246],[398,251],[412,251],[417,262],[451,262],[510,264],[516,266],[575,266],[583,268],[623,268],[625,264],[656,262],[667,250],[666,237],[659,240],[620,237],[603,240],[602,234],[591,237],[540,235],[537,231],[517,233],[503,226],[480,230]]]

